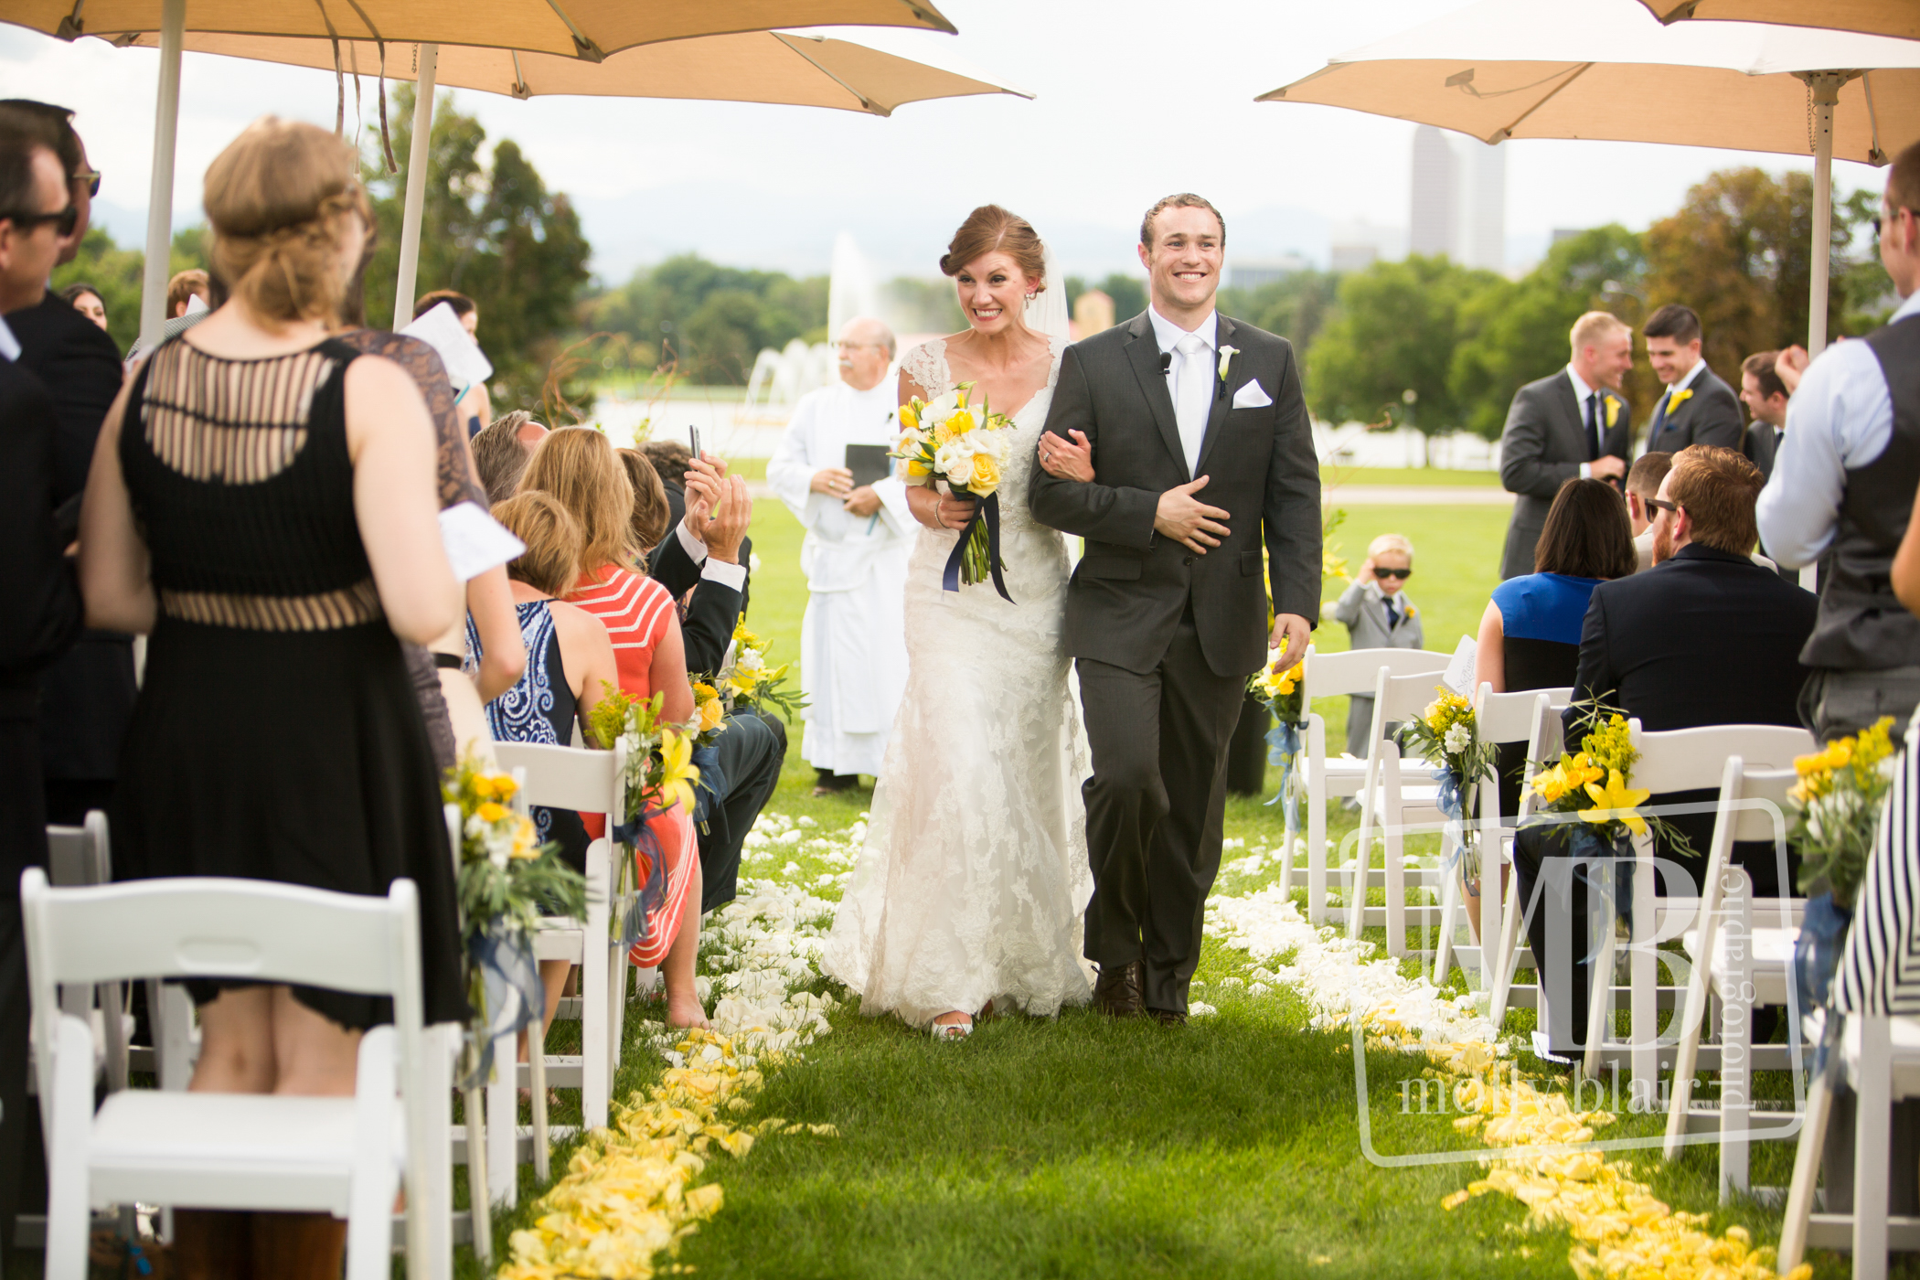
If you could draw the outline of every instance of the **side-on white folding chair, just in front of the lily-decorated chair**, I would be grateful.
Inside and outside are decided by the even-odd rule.
[[[1807,750],[1812,750],[1809,741]],[[1701,1063],[1701,1029],[1709,1004],[1720,1006],[1720,1040],[1713,1065],[1722,1077],[1728,1071],[1747,1073],[1770,1059],[1774,1046],[1753,1044],[1753,1009],[1788,1004],[1793,981],[1793,940],[1805,915],[1803,898],[1753,898],[1753,887],[1741,867],[1730,865],[1736,841],[1764,842],[1768,848],[1780,833],[1776,825],[1789,816],[1788,793],[1799,781],[1795,770],[1753,768],[1740,756],[1726,760],[1720,779],[1720,802],[1713,819],[1713,842],[1707,846],[1707,871],[1701,885],[1693,929],[1682,935],[1692,958],[1686,986],[1686,1013],[1680,1019],[1680,1044],[1674,1052],[1672,1092],[1667,1111],[1665,1157],[1674,1159],[1690,1128],[1715,1125],[1720,1132],[1720,1199],[1747,1192],[1747,1126],[1753,1115],[1751,1084],[1728,1088],[1722,1080],[1720,1107],[1713,1113],[1693,1109],[1693,1073]],[[1772,812],[1753,802],[1772,804]],[[1741,802],[1747,802],[1743,808]],[[1726,887],[1738,892],[1732,900]],[[1791,889],[1791,887],[1786,887]],[[1736,923],[1732,933],[1724,923]],[[1736,942],[1738,938],[1738,942]],[[1718,994],[1718,1000],[1713,996]],[[1776,1063],[1766,1061],[1766,1067]],[[1791,1065],[1791,1063],[1778,1063]]]

